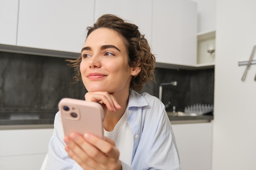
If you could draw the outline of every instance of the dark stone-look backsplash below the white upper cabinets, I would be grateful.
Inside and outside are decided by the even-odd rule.
[[[74,69],[65,58],[0,52],[0,110],[41,110],[55,114],[63,97],[84,99],[87,92],[81,82],[74,83]],[[162,101],[171,102],[166,110],[184,111],[196,104],[213,104],[214,68],[200,70],[155,69],[156,82],[150,81],[142,92],[159,97],[159,84],[177,81],[177,86],[163,86]]]

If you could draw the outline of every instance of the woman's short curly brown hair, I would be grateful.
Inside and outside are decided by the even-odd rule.
[[[139,32],[138,26],[117,17],[112,14],[102,15],[93,26],[88,26],[87,37],[92,31],[99,28],[108,28],[116,31],[124,40],[128,53],[128,64],[130,67],[140,67],[141,71],[138,75],[133,76],[130,82],[130,88],[140,91],[143,85],[149,80],[155,81],[155,56],[150,52],[148,41]],[[69,66],[74,67],[77,75],[74,76],[76,82],[81,80],[80,63],[82,57],[76,60],[67,60]]]

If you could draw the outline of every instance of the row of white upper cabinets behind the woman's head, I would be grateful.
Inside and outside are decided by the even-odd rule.
[[[0,13],[0,50],[77,55],[87,26],[111,13],[139,26],[157,66],[197,64],[197,3],[190,0],[2,0]]]

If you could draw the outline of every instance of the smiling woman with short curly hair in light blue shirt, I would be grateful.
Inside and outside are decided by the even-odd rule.
[[[135,24],[103,15],[92,26],[77,60],[70,60],[88,93],[103,106],[105,140],[92,134],[64,137],[59,113],[49,142],[49,170],[180,170],[164,105],[148,93],[155,57]],[[64,149],[65,148],[65,149]]]

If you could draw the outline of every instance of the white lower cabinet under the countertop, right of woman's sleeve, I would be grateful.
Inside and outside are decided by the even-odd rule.
[[[211,170],[212,123],[172,124],[182,170]]]

